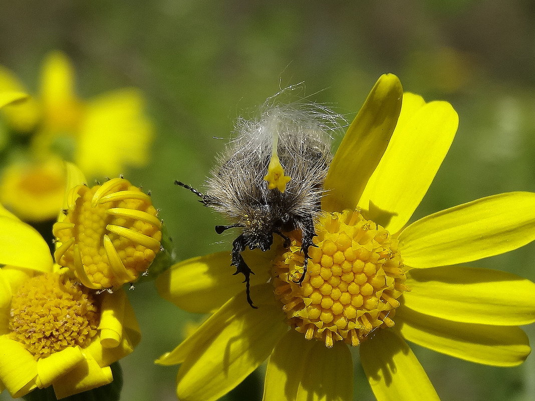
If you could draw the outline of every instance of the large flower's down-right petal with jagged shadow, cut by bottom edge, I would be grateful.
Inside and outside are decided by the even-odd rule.
[[[377,335],[360,346],[361,363],[377,401],[440,401],[422,365],[394,331]]]

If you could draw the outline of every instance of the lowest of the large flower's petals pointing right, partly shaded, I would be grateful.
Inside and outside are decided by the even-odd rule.
[[[396,310],[396,327],[413,343],[479,364],[516,366],[531,351],[528,336],[517,326],[453,322],[402,306]]]

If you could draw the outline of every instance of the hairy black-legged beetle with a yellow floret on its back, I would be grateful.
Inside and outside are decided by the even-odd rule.
[[[241,255],[246,248],[269,250],[273,234],[282,237],[287,248],[291,241],[286,234],[299,229],[304,263],[295,283],[301,284],[307,274],[308,249],[316,246],[314,223],[332,158],[330,132],[339,127],[339,118],[317,104],[266,105],[260,118],[238,120],[236,137],[218,156],[204,194],[175,181],[232,222],[216,226],[218,234],[241,228],[232,243],[231,265],[236,267],[234,274],[244,275],[252,307],[253,271]]]

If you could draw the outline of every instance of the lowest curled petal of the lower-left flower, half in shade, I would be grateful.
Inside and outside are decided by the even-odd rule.
[[[86,354],[85,360],[53,383],[56,398],[64,398],[82,391],[101,387],[113,381],[109,366],[101,368],[95,359]]]

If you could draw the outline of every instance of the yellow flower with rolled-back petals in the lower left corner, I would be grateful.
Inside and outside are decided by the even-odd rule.
[[[47,243],[0,206],[0,390],[57,398],[113,380],[140,329],[123,290],[96,294],[54,265]]]

